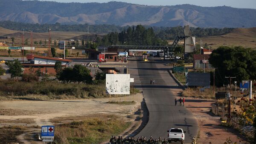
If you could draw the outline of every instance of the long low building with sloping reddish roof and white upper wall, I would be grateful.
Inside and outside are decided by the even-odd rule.
[[[40,69],[41,73],[47,73],[49,75],[55,75],[54,65],[57,61],[61,62],[62,68],[68,67],[72,60],[69,59],[60,59],[53,57],[44,57],[44,56],[33,56],[34,63],[24,63],[23,65],[23,73],[35,73]]]

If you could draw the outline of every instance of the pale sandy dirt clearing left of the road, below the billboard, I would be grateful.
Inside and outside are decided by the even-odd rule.
[[[125,97],[111,98],[112,101],[125,101]],[[126,96],[126,101],[133,101],[133,96]],[[0,127],[21,125],[29,127],[27,133],[18,136],[24,144],[42,142],[35,140],[41,126],[52,125],[52,119],[63,120],[67,117],[88,116],[96,114],[116,114],[124,121],[132,121],[131,127],[125,130],[128,134],[140,126],[142,117],[142,93],[134,95],[134,104],[110,104],[108,99],[79,99],[53,101],[1,101]],[[63,122],[63,121],[62,121]],[[39,126],[39,127],[38,127]]]

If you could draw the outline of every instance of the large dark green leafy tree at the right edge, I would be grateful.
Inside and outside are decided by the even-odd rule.
[[[236,76],[236,81],[256,79],[256,50],[243,47],[221,46],[212,51],[209,63],[215,70],[215,84],[227,85],[225,76]]]

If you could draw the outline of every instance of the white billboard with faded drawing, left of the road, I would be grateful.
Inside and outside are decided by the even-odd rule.
[[[106,93],[130,94],[130,74],[106,74]]]

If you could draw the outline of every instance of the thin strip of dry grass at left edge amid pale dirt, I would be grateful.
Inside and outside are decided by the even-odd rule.
[[[40,113],[34,110],[18,110],[18,109],[3,109],[0,108],[0,116],[28,116]]]

